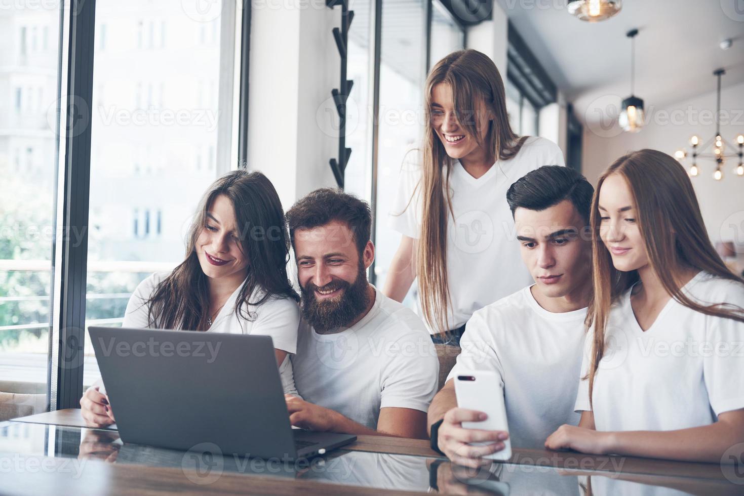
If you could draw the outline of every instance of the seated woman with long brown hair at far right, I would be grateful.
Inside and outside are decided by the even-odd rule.
[[[578,427],[545,442],[719,463],[744,453],[744,280],[713,249],[684,167],[643,149],[601,175]],[[732,460],[725,460],[726,454]]]

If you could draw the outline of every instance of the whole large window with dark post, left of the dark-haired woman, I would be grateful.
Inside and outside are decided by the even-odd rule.
[[[83,332],[121,326],[138,283],[182,260],[202,193],[238,165],[250,5],[11,3],[0,8],[0,420],[77,405],[98,376]]]

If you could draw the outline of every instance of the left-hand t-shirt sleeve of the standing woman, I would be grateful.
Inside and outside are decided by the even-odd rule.
[[[388,213],[388,225],[414,239],[419,237],[421,166],[418,157],[418,150],[406,153],[398,176],[398,193]]]

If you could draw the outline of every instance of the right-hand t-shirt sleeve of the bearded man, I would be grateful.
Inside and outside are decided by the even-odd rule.
[[[397,339],[382,369],[379,408],[412,408],[426,412],[437,393],[439,359],[431,335],[423,329]]]

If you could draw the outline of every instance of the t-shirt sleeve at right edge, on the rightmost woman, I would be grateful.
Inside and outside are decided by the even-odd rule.
[[[720,281],[716,300],[744,308],[744,286]],[[744,323],[708,315],[703,355],[703,378],[716,415],[744,408]]]

